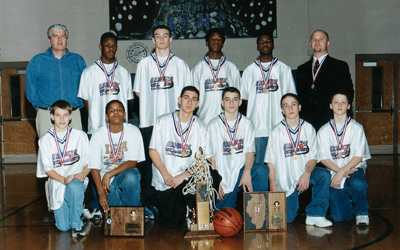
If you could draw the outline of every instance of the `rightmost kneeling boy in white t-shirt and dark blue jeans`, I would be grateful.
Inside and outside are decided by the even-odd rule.
[[[368,226],[365,169],[371,154],[367,138],[362,125],[347,116],[346,92],[333,94],[330,103],[333,119],[318,131],[318,153],[321,163],[331,170],[331,216],[336,222],[355,216],[357,226]]]

